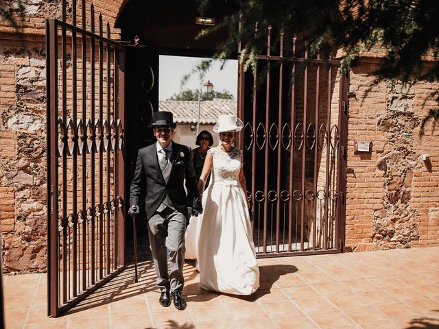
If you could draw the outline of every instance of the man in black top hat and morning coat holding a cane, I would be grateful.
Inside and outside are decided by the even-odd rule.
[[[200,193],[190,158],[191,149],[172,141],[176,127],[172,113],[154,112],[152,121],[157,143],[139,149],[128,212],[132,217],[139,215],[139,197],[142,191],[146,191],[145,212],[157,286],[161,290],[159,301],[167,307],[172,297],[174,306],[184,310],[186,302],[182,289],[185,280],[182,267],[185,260],[185,230],[189,221],[184,180],[192,200],[192,215],[195,216],[202,212]]]

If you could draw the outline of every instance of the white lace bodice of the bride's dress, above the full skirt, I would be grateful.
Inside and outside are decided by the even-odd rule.
[[[213,182],[237,182],[241,170],[241,149],[224,152],[217,148],[208,150],[213,155]]]

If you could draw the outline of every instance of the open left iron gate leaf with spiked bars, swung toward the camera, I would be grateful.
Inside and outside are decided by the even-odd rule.
[[[93,4],[90,31],[85,0],[81,11],[78,27],[73,0],[67,23],[63,0],[62,21],[46,21],[47,297],[53,317],[125,263],[125,47],[110,40],[108,23],[103,36],[101,14],[95,34]]]

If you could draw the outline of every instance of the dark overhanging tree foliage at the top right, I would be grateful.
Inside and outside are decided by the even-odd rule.
[[[209,12],[228,2],[200,0],[199,8]],[[244,68],[254,67],[256,55],[267,52],[267,30],[271,27],[273,32],[285,33],[284,49],[291,49],[293,36],[307,41],[311,57],[320,53],[321,58],[329,58],[343,49],[342,70],[348,70],[365,51],[382,47],[385,55],[374,73],[377,81],[439,80],[437,0],[237,0],[237,4],[241,13],[226,16],[200,34],[228,29],[230,37],[219,45],[215,58],[235,56],[241,40],[239,60]],[[272,34],[271,44],[272,49],[278,48],[279,33]],[[430,60],[427,65],[426,55]],[[429,119],[439,119],[439,110],[431,110]]]

